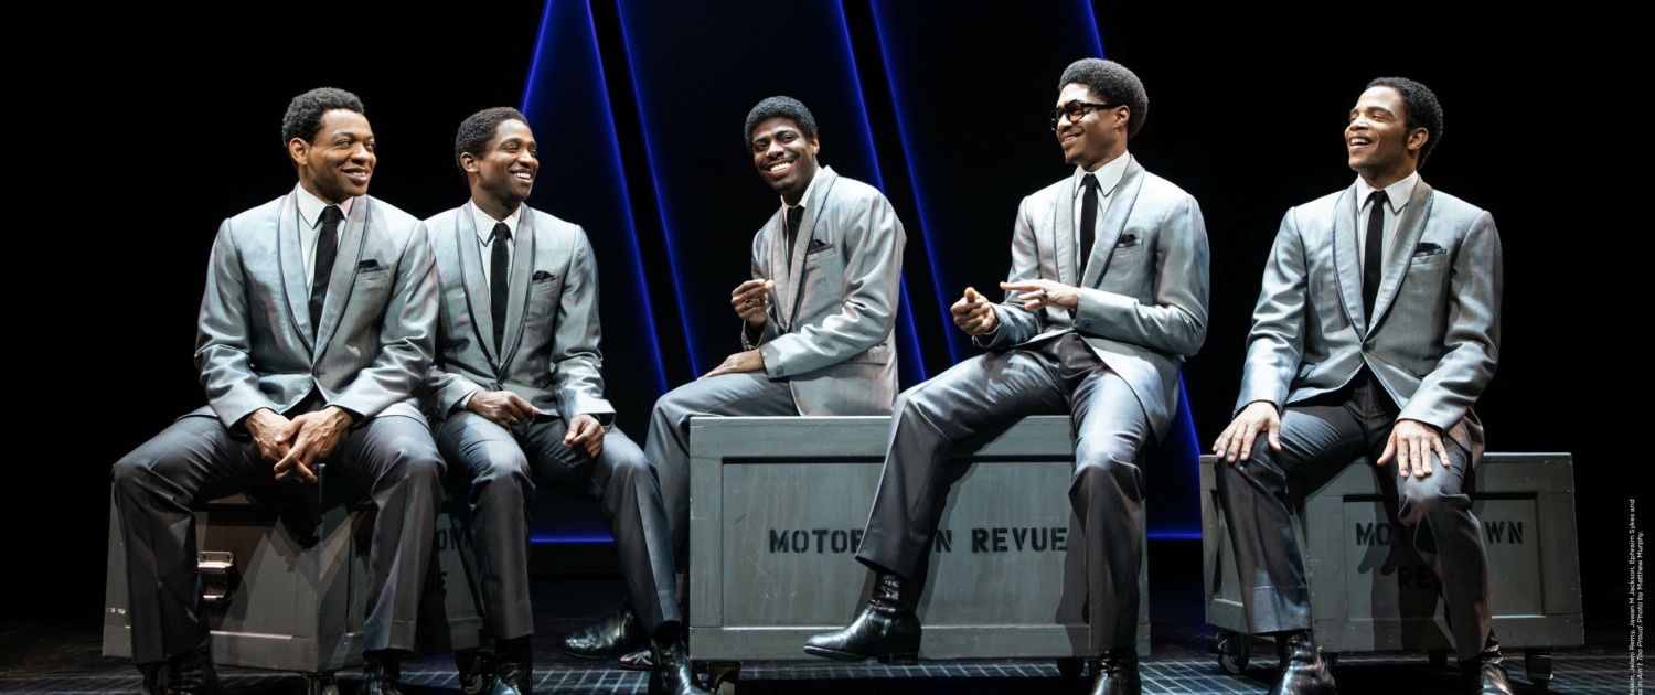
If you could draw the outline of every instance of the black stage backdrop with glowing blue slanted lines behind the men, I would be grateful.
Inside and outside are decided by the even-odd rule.
[[[1600,242],[1629,227],[1599,202],[1610,195],[1595,165],[1624,121],[1582,116],[1604,99],[1572,78],[1612,43],[1582,31],[1612,22],[1587,8],[1380,18],[1327,3],[702,5],[255,2],[63,17],[96,70],[46,53],[12,70],[70,104],[70,132],[41,117],[46,104],[13,104],[38,119],[13,126],[31,179],[13,205],[38,210],[18,232],[70,240],[45,253],[76,270],[31,273],[51,256],[13,255],[15,291],[51,300],[22,301],[13,324],[50,338],[43,359],[13,357],[12,465],[25,473],[7,511],[22,563],[5,614],[98,621],[109,465],[202,402],[192,349],[207,253],[223,217],[293,187],[278,137],[293,94],[357,93],[379,141],[371,194],[419,217],[467,197],[452,159],[460,119],[523,106],[541,146],[530,205],[591,235],[609,397],[642,440],[664,389],[738,349],[728,291],[776,207],[738,141],[753,103],[809,104],[821,161],[895,204],[909,233],[909,386],[975,354],[947,304],[968,285],[996,286],[1018,200],[1069,172],[1044,113],[1063,68],[1101,41],[1150,94],[1130,151],[1206,217],[1210,328],[1183,372],[1203,448],[1228,422],[1283,212],[1354,177],[1341,132],[1362,84],[1403,74],[1437,91],[1445,139],[1422,174],[1491,210],[1504,243],[1501,366],[1478,405],[1490,450],[1576,455],[1587,614],[1625,616],[1629,501],[1642,491],[1625,475],[1637,460],[1614,453],[1625,429],[1610,400],[1645,379],[1622,366],[1640,351],[1605,349],[1635,344],[1633,329],[1594,328],[1624,313],[1604,304],[1642,293],[1609,290],[1625,275],[1604,256],[1629,252]],[[543,25],[551,40],[536,45]],[[48,184],[66,174],[78,185]],[[13,341],[13,356],[33,351]],[[1190,463],[1162,465],[1150,483],[1152,523],[1190,530]]]

